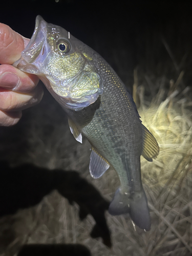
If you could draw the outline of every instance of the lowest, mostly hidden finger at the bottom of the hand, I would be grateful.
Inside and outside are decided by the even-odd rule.
[[[0,110],[0,126],[11,126],[16,124],[22,117],[22,112],[6,112]]]

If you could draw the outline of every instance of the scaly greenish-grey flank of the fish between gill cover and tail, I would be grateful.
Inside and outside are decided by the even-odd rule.
[[[86,111],[81,111],[80,115],[76,112],[72,119],[79,126],[83,126],[82,133],[96,151],[115,168],[121,188],[126,192],[127,187],[130,192],[140,191],[142,135],[139,115],[131,95],[126,92],[120,78],[108,63],[98,57],[97,65],[103,80],[100,106],[85,126],[82,117],[88,116]],[[89,106],[86,109],[88,108]]]

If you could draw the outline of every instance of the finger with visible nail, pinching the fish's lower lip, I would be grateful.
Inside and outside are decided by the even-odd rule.
[[[26,74],[11,65],[0,66],[0,87],[27,93],[36,87],[38,81],[36,75]]]

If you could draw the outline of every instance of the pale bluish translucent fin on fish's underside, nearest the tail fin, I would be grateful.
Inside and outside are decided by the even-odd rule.
[[[90,164],[89,164],[89,170],[90,170],[91,176],[94,179],[97,179],[101,177],[109,167],[110,167],[110,164],[102,156],[100,156],[92,147]]]

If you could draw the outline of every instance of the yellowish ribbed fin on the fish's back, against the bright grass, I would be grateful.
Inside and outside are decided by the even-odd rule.
[[[143,132],[143,150],[141,155],[148,161],[152,162],[153,158],[159,155],[159,145],[154,136],[142,124]]]

